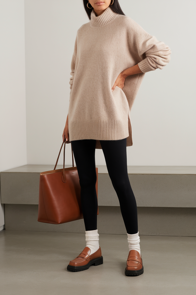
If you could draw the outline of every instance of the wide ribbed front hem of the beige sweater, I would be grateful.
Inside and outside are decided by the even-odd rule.
[[[128,119],[73,120],[69,123],[69,140],[120,140],[129,136]]]

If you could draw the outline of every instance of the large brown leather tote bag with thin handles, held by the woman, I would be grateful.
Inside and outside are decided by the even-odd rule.
[[[63,169],[56,169],[64,143]],[[80,200],[80,183],[77,168],[65,168],[65,145],[63,141],[54,170],[40,173],[38,221],[60,224],[83,218]],[[98,168],[96,168],[96,193],[98,196]],[[99,212],[97,212],[99,214]]]

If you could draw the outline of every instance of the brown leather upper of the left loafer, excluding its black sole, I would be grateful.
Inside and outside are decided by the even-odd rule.
[[[69,262],[69,265],[85,266],[91,260],[101,257],[101,248],[99,247],[99,249],[92,255],[90,253],[91,253],[91,249],[88,247],[85,247],[84,250],[75,259]]]

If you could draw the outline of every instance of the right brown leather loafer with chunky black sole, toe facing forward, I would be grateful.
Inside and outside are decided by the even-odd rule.
[[[139,276],[144,272],[142,257],[136,250],[130,250],[127,258],[126,276]]]

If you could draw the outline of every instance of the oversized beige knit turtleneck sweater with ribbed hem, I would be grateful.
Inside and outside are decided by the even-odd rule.
[[[148,34],[133,19],[110,6],[77,31],[71,60],[68,109],[69,142],[127,138],[133,145],[130,110],[144,74],[170,61],[170,48]],[[124,87],[112,87],[118,75],[133,65],[143,73],[125,78]]]

